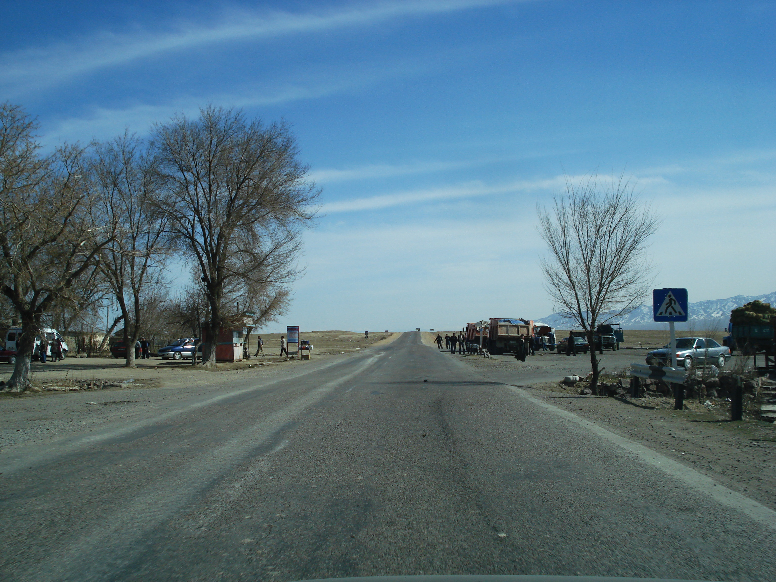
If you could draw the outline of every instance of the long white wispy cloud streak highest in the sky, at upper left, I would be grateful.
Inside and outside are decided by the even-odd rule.
[[[66,43],[0,55],[0,86],[19,94],[80,74],[215,43],[367,26],[389,19],[435,15],[528,0],[409,0],[365,2],[318,12],[232,12],[219,23],[182,23],[164,32],[98,33]]]

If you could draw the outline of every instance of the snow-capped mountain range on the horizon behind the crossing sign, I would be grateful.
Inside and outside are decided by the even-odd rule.
[[[714,322],[720,324],[720,327],[725,327],[730,317],[730,311],[736,307],[741,307],[744,303],[759,299],[764,303],[776,303],[776,291],[774,293],[768,293],[767,295],[747,296],[736,295],[735,297],[728,297],[727,299],[715,299],[707,301],[698,301],[696,303],[690,303],[688,306],[689,321],[696,321],[699,324],[707,324],[708,322]],[[566,320],[559,314],[548,315],[542,317],[540,320],[542,324],[547,324],[552,327],[559,327],[560,329],[570,329],[570,327],[576,327],[573,322]],[[635,310],[625,317],[619,320],[624,328],[631,329],[663,329],[668,324],[658,324],[652,320],[652,306],[641,305],[636,307]],[[687,324],[677,324],[677,327],[685,327]]]

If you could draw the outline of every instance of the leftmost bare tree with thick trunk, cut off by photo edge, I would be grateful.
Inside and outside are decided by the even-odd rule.
[[[35,129],[19,107],[0,106],[0,289],[23,327],[16,367],[4,387],[11,392],[29,387],[41,318],[97,268],[114,230],[95,222],[92,192],[82,175],[83,151],[64,146],[43,158]]]

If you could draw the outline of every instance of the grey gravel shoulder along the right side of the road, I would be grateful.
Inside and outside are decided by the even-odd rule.
[[[623,353],[604,352],[604,365],[609,369],[622,369],[628,359]],[[589,362],[579,361],[579,357],[534,356],[525,364],[507,356],[491,359],[450,357],[460,359],[488,379],[528,387],[533,396],[553,406],[684,463],[776,510],[774,424],[751,419],[731,422],[728,420],[729,407],[725,404],[705,407],[697,400],[688,400],[687,410],[674,411],[674,400],[670,398],[582,396],[578,390],[566,389],[559,384],[563,376],[584,376],[587,372]]]

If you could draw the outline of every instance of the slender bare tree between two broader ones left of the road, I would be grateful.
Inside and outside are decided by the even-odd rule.
[[[102,249],[100,270],[113,290],[123,317],[126,367],[135,367],[135,350],[144,333],[142,296],[148,286],[164,285],[170,256],[163,234],[165,215],[154,206],[158,175],[144,142],[126,133],[94,144],[92,175],[105,220],[117,225],[116,237]],[[147,294],[147,293],[146,293]]]

